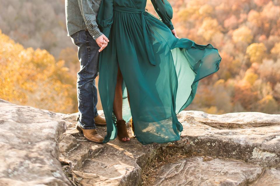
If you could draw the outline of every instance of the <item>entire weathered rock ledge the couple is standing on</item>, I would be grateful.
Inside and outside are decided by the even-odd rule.
[[[158,167],[150,185],[280,185],[280,115],[182,111],[181,140],[145,146],[88,142],[75,129],[76,114],[0,100],[0,116],[4,186],[143,185],[142,169],[163,151],[190,158]],[[97,130],[106,134],[106,127]]]

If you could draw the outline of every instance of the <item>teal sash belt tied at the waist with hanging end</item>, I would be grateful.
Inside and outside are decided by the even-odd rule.
[[[132,13],[132,14],[141,14],[142,30],[143,30],[143,36],[144,36],[144,42],[145,42],[148,60],[149,60],[150,64],[156,65],[155,64],[155,54],[153,51],[152,34],[148,27],[146,17],[144,16],[145,9],[134,9],[134,8],[128,8],[128,7],[114,6],[114,11]]]

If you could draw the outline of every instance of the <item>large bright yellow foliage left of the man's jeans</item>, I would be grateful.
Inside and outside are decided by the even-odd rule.
[[[1,99],[55,112],[74,111],[75,80],[69,80],[64,61],[56,62],[46,50],[24,49],[0,31],[0,65]]]

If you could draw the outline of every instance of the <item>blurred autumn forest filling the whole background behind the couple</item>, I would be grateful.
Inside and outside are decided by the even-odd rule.
[[[178,36],[187,37],[198,44],[211,43],[223,58],[218,73],[200,81],[196,97],[188,110],[202,110],[214,114],[242,111],[280,113],[280,0],[169,0],[169,2],[173,6],[172,20]],[[47,102],[49,105],[55,105],[55,102],[64,96],[69,98],[69,101],[62,101],[61,105],[67,109],[58,111],[76,111],[76,97],[73,95],[76,94],[74,84],[79,65],[76,48],[67,37],[64,0],[0,0],[0,3],[2,32],[24,47],[34,48],[24,49],[8,39],[7,42],[19,50],[5,53],[7,48],[0,46],[2,77],[0,98],[13,98],[10,100],[23,105],[55,110],[57,105],[45,107],[46,100],[43,99],[43,94],[39,94],[40,91],[45,91],[38,88],[26,91],[17,83],[8,84],[7,79],[13,76],[14,82],[21,82],[24,85],[23,80],[16,79],[17,76],[28,80],[36,77],[30,74],[36,69],[43,72],[43,69],[56,67],[55,71],[50,71],[57,73],[55,78],[53,80],[47,78],[43,83],[46,90],[48,88],[56,90],[54,87],[63,86],[71,88],[63,89],[67,90],[69,94],[67,96],[66,92],[60,94],[50,92],[47,95],[52,96],[52,99]],[[147,9],[155,15],[149,0]],[[3,34],[1,37],[6,38]],[[8,44],[4,46],[9,47]],[[46,49],[55,58],[47,51],[36,48]],[[40,58],[29,60],[29,57],[18,60],[20,51],[29,56],[40,54]],[[51,65],[46,66],[44,58],[51,59]],[[61,60],[65,61],[64,66]],[[31,72],[22,69],[20,74],[16,74],[12,68],[14,64],[22,68],[29,64]],[[50,74],[47,76],[50,77]],[[38,81],[27,87],[32,87],[36,83],[40,85],[40,81],[43,81],[40,78],[36,79]],[[54,79],[61,84],[54,84]],[[7,92],[11,87],[13,91]],[[27,97],[14,96],[20,92],[24,92]],[[31,104],[30,100],[34,95],[38,99]]]

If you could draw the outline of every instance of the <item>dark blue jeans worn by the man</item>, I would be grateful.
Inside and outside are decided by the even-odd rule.
[[[77,97],[79,121],[83,129],[95,129],[94,117],[97,113],[97,89],[95,78],[98,74],[99,46],[87,30],[71,35],[72,42],[78,46],[78,58],[81,63],[77,74]]]

